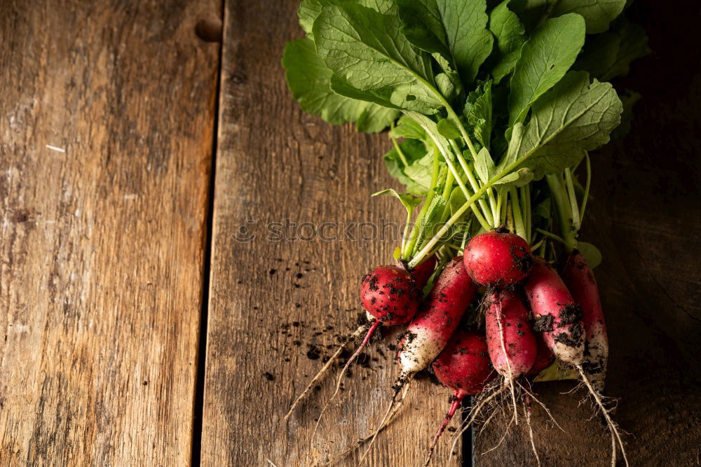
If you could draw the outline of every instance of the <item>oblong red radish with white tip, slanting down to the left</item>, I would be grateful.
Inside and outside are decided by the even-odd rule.
[[[476,292],[463,257],[450,260],[400,342],[397,356],[402,375],[428,368],[448,343]]]

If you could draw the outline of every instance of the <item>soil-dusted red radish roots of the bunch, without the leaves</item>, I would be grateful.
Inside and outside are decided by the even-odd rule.
[[[421,290],[427,283],[430,292],[423,298]],[[478,314],[469,320],[477,324],[466,326],[463,318],[478,290],[482,291],[475,308]],[[561,277],[545,259],[533,256],[522,237],[506,229],[491,230],[472,237],[462,256],[447,261],[437,262],[433,255],[414,269],[405,263],[375,267],[362,279],[360,300],[369,323],[355,335],[367,333],[343,371],[376,328],[408,323],[396,357],[399,376],[376,433],[401,400],[397,396],[402,389],[417,372],[429,367],[454,391],[430,447],[432,453],[465,396],[477,396],[501,376],[498,384],[489,385],[491,393],[482,399],[510,391],[517,417],[516,386],[526,391],[519,379],[540,374],[557,358],[559,365],[577,370],[623,449],[615,424],[601,403],[599,391],[608,358],[606,325],[593,272],[578,251],[566,254]],[[472,419],[482,405],[472,410]]]

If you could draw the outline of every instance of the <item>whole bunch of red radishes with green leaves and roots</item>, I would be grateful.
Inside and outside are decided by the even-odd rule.
[[[468,421],[498,396],[510,396],[517,421],[517,393],[536,400],[524,377],[578,378],[610,428],[614,461],[622,451],[601,396],[600,254],[578,236],[589,152],[625,132],[637,100],[608,81],[648,51],[623,15],[630,4],[301,0],[305,37],[283,56],[292,96],[329,123],[389,127],[383,160],[405,189],[376,193],[402,203],[407,227],[398,263],[362,280],[369,322],[351,337],[365,339],[332,396],[379,326],[408,325],[376,433],[427,368],[455,393],[434,445],[465,396],[477,396]]]

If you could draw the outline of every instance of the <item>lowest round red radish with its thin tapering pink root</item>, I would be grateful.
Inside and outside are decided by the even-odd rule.
[[[487,351],[487,342],[483,334],[475,330],[461,329],[451,337],[446,348],[433,362],[433,372],[438,380],[455,392],[450,408],[433,437],[426,465],[430,462],[438,438],[450,423],[463,398],[479,393],[496,376]]]

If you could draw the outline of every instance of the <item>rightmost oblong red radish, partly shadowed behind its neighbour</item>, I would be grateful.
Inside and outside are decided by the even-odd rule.
[[[582,307],[585,328],[584,361],[582,368],[597,391],[604,389],[608,363],[608,336],[604,310],[594,272],[579,251],[570,253],[562,270],[562,279],[572,297]]]

